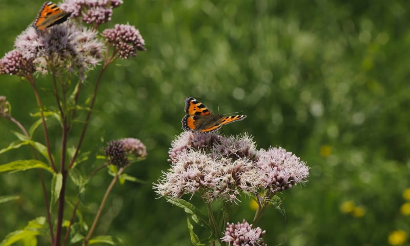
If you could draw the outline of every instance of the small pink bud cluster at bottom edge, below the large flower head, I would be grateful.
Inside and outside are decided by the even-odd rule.
[[[252,229],[252,224],[249,224],[245,219],[242,223],[228,223],[225,235],[221,238],[223,242],[228,242],[229,245],[243,246],[267,246],[261,238],[266,231],[262,231],[259,227]]]

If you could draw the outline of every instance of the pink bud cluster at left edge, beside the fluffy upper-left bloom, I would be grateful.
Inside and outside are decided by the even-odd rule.
[[[14,49],[0,59],[0,74],[26,75],[34,73],[33,59],[26,59],[20,50]]]

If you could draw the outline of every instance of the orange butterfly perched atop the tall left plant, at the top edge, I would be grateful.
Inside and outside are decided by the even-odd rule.
[[[38,31],[41,31],[48,27],[65,22],[70,15],[71,13],[60,9],[56,4],[46,2],[43,4],[40,12],[38,12],[33,26]]]

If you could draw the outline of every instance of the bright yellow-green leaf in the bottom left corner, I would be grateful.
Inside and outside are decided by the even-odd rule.
[[[47,235],[47,225],[45,217],[38,217],[28,222],[28,225],[23,230],[17,230],[10,232],[7,236],[0,242],[0,246],[8,246],[19,240],[26,238],[33,238],[37,235],[48,236]]]

